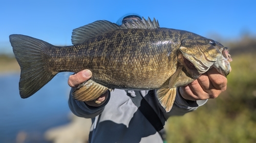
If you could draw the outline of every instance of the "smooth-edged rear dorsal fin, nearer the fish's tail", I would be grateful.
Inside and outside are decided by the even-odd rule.
[[[98,20],[93,23],[75,28],[72,32],[72,44],[81,44],[99,34],[119,29],[115,23],[106,20]]]

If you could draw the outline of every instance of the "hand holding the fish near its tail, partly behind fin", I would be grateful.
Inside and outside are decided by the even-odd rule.
[[[76,88],[79,84],[90,79],[91,77],[92,77],[92,72],[90,70],[82,70],[78,73],[70,75],[68,84],[71,88]],[[98,106],[102,105],[106,101],[106,99],[108,99],[108,96],[109,96],[109,92],[107,91],[106,93],[104,93],[100,97],[98,97],[97,99],[95,99],[93,101],[86,101],[85,103],[90,106],[98,107]]]

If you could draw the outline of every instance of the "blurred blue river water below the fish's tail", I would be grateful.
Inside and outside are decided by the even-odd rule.
[[[70,74],[57,74],[27,99],[19,96],[18,73],[0,74],[0,142],[16,142],[20,133],[26,135],[25,142],[47,142],[46,130],[67,124]]]

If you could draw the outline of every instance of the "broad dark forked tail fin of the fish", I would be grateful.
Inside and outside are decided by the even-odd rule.
[[[53,45],[25,35],[10,35],[9,38],[21,70],[19,94],[28,98],[56,75],[45,70],[42,59],[42,49]]]

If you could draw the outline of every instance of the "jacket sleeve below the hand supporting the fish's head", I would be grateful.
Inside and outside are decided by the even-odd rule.
[[[183,116],[187,112],[196,110],[199,106],[204,105],[206,100],[188,101],[185,100],[179,93],[177,89],[177,95],[175,97],[173,108],[169,112],[165,112],[164,116],[167,119],[170,116]]]

